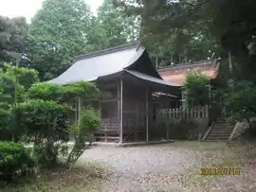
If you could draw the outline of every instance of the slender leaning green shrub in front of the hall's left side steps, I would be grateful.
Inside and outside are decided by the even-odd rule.
[[[89,109],[83,110],[78,126],[72,126],[70,133],[75,137],[75,144],[69,153],[66,164],[75,164],[86,148],[93,142],[93,133],[101,126],[101,113]]]

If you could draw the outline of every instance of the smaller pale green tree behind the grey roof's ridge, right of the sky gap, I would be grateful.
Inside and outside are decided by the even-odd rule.
[[[98,9],[98,17],[94,18],[88,39],[99,50],[136,41],[138,29],[136,16],[129,17],[115,7],[113,0],[104,0]]]

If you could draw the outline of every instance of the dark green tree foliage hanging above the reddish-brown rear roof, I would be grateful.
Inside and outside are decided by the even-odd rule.
[[[207,60],[219,47],[195,1],[116,0],[126,14],[142,19],[140,39],[163,62]],[[209,52],[210,51],[210,52]]]

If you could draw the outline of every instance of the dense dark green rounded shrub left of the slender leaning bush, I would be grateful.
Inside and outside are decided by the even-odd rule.
[[[55,164],[61,148],[56,142],[69,140],[69,111],[65,105],[39,99],[20,103],[13,109],[17,126],[24,131],[24,139],[34,144],[42,165]]]

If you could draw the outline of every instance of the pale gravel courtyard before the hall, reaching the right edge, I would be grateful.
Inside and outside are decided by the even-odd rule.
[[[134,148],[95,147],[86,150],[81,160],[100,162],[112,170],[100,191],[242,192],[256,187],[256,164],[245,166],[240,176],[212,180],[200,175],[201,167],[217,166],[220,160],[235,158],[225,144],[200,145],[207,148],[176,142]]]

